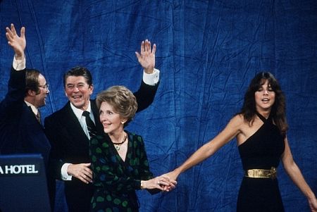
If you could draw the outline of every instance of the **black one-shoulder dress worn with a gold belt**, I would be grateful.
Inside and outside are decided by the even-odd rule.
[[[246,142],[238,146],[242,166],[249,169],[278,168],[285,149],[284,137],[278,127],[257,113],[263,125]],[[243,177],[237,199],[237,211],[284,211],[278,179]]]

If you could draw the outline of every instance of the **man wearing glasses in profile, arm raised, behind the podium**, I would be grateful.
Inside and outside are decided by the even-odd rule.
[[[49,85],[38,70],[25,68],[25,28],[19,37],[11,24],[6,27],[6,37],[15,55],[8,92],[0,102],[0,154],[42,154],[47,167],[51,146],[39,108],[45,105]]]

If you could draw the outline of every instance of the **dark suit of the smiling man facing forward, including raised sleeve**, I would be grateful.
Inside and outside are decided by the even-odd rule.
[[[142,82],[139,90],[135,92],[138,110],[147,108],[154,100],[159,83],[155,86],[146,85]],[[96,101],[90,101],[97,132],[104,134],[104,127],[99,121],[99,110]],[[54,177],[61,180],[61,167],[64,163],[90,163],[89,139],[82,130],[80,123],[70,108],[70,102],[45,118],[44,121],[46,136],[51,142],[51,158],[53,163]],[[92,184],[85,184],[72,177],[72,180],[65,181],[65,195],[69,211],[87,212],[92,199]]]

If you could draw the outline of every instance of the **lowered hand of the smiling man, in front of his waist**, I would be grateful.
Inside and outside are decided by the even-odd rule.
[[[90,163],[70,164],[67,168],[67,173],[88,184],[92,182],[92,170],[89,166]]]

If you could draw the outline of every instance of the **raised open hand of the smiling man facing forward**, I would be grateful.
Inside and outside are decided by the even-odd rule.
[[[151,42],[149,40],[142,41],[141,43],[141,51],[140,53],[135,51],[135,55],[137,56],[137,60],[144,68],[145,73],[151,74],[154,73],[155,66],[155,51],[156,45],[153,45],[153,49],[151,49]]]

